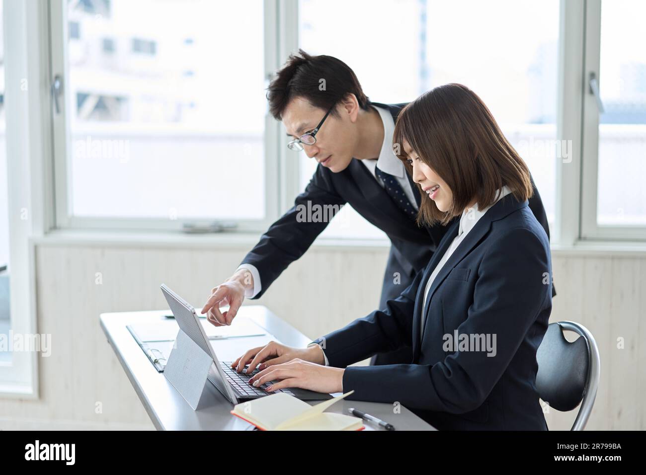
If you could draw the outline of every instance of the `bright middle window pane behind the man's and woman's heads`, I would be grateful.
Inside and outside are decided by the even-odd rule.
[[[331,34],[339,11],[353,27]],[[300,0],[300,46],[346,62],[370,100],[408,102],[450,82],[474,90],[530,167],[552,222],[556,156],[567,151],[556,143],[558,24],[558,0]],[[300,164],[311,167],[304,154]],[[360,220],[344,235],[366,237]]]

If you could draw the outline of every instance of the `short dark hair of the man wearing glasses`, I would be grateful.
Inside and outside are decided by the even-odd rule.
[[[346,63],[324,54],[310,56],[303,50],[289,55],[267,88],[269,111],[276,120],[281,120],[293,98],[304,98],[311,105],[327,111],[348,94],[354,94],[359,107],[368,110],[370,100]],[[332,115],[337,115],[337,111],[332,111]]]

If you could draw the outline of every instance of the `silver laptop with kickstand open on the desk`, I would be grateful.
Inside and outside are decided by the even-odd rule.
[[[276,392],[284,392],[291,394],[291,396],[298,397],[304,401],[318,401],[323,399],[331,399],[332,396],[326,393],[309,391],[300,388],[279,389],[273,392],[267,392],[267,386],[270,386],[275,381],[265,383],[262,386],[255,388],[249,384],[249,379],[258,370],[255,369],[253,373],[238,373],[231,368],[233,361],[220,361],[218,356],[213,350],[213,346],[209,343],[209,339],[200,324],[200,317],[196,313],[191,304],[182,299],[179,295],[174,293],[165,284],[161,284],[161,292],[163,293],[166,301],[171,308],[172,314],[180,330],[193,340],[204,352],[213,359],[213,364],[209,369],[207,379],[213,384],[231,403],[238,404],[240,401],[247,401],[249,399],[256,399],[258,397],[269,396]],[[235,323],[234,323],[235,324]]]

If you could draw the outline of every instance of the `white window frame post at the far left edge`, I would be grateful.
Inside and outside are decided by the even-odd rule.
[[[53,190],[48,84],[48,8],[38,1],[3,4],[6,154],[9,203],[11,330],[37,332],[34,238],[50,228]],[[31,32],[38,32],[31,34]],[[21,84],[26,81],[26,89]],[[26,218],[23,210],[27,211]],[[39,397],[37,352],[14,352],[0,365],[0,398]]]

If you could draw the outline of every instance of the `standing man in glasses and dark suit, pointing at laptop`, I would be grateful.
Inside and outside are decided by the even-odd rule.
[[[304,150],[318,167],[295,206],[267,229],[233,275],[211,290],[202,313],[216,326],[231,324],[245,297],[260,297],[328,225],[328,220],[303,220],[299,210],[347,203],[390,239],[379,302],[384,308],[428,264],[448,227],[417,225],[420,192],[392,145],[395,120],[406,104],[371,102],[346,63],[303,50],[289,56],[269,84],[267,99],[287,131],[287,147]],[[549,236],[536,186],[529,206]],[[225,305],[229,310],[220,312]],[[410,361],[412,349],[402,348],[375,355],[371,364]]]

